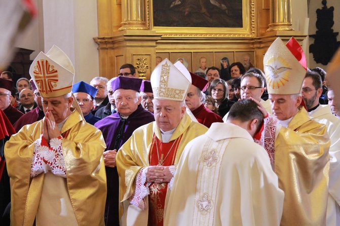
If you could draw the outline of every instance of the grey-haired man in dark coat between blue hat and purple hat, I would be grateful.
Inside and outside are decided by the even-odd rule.
[[[98,109],[100,109],[101,107],[105,107],[109,103],[106,86],[108,82],[109,80],[105,77],[95,77],[90,82],[90,85],[98,90],[93,99],[93,109],[91,111],[93,115],[95,115],[95,112]]]

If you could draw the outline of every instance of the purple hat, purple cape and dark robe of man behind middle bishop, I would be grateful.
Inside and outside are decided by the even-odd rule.
[[[112,91],[117,89],[130,89],[139,92],[142,84],[141,79],[119,76],[112,82]],[[119,148],[130,138],[133,131],[145,124],[155,121],[153,114],[145,110],[141,104],[137,110],[127,118],[120,117],[118,112],[108,116],[94,124],[101,130],[106,143],[106,150]],[[106,167],[108,195],[105,215],[106,226],[119,225],[119,177],[117,168]]]

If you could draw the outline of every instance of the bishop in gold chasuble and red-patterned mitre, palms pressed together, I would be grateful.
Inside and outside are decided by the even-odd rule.
[[[24,126],[5,146],[11,225],[104,225],[106,146],[73,101],[73,65],[53,46],[29,72],[45,118]]]

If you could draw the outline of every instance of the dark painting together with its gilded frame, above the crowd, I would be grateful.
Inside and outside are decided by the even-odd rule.
[[[147,17],[165,36],[254,36],[254,1],[149,0]]]

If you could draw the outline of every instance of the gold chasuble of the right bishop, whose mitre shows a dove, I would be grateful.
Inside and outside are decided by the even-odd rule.
[[[275,140],[275,172],[285,192],[281,225],[325,225],[330,141],[302,107]]]

